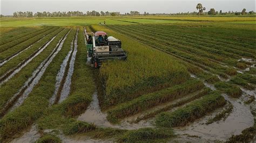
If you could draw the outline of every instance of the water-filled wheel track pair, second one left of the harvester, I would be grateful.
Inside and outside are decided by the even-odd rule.
[[[70,31],[69,31],[70,32]],[[68,36],[68,33],[66,33],[58,42],[56,47],[53,49],[51,54],[46,58],[35,71],[33,71],[32,76],[29,77],[29,79],[25,82],[23,87],[5,104],[3,110],[0,112],[0,117],[4,116],[6,112],[12,111],[16,109],[18,106],[20,106],[24,100],[29,96],[30,92],[32,91],[33,87],[39,82],[41,77],[44,74],[44,71],[46,68],[50,65],[51,61],[55,56],[58,54],[58,52],[62,49],[63,43],[66,40],[66,37]],[[18,100],[18,101],[17,101]],[[17,102],[16,102],[17,101]],[[15,103],[16,102],[16,103]]]

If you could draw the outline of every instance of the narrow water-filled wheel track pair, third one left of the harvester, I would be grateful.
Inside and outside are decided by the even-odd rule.
[[[64,31],[64,29],[62,31]],[[60,31],[60,32],[62,32],[62,31]],[[38,56],[41,52],[43,52],[44,49],[46,47],[48,47],[48,45],[50,45],[50,43],[56,38],[56,36],[60,32],[58,32],[56,35],[54,35],[54,37],[51,40],[45,42],[44,45],[39,47],[36,52],[32,53],[28,58],[26,58],[21,63],[19,63],[17,67],[10,69],[3,76],[1,76],[0,77],[0,85],[7,82],[8,80],[10,80],[10,78],[14,77],[15,74],[17,74],[22,68],[24,68],[26,65],[28,65],[29,62],[31,62],[34,58],[36,58],[36,56]]]

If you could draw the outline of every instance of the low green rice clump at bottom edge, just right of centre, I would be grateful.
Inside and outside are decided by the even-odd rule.
[[[140,128],[127,131],[117,142],[157,142],[163,139],[174,137],[170,128]]]

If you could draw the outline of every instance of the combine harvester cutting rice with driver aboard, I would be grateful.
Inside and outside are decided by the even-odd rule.
[[[104,60],[126,60],[126,52],[122,49],[122,42],[114,37],[107,37],[107,33],[97,31],[86,33],[92,36],[92,44],[86,44],[88,56],[95,68],[99,68]],[[104,40],[99,40],[104,39]]]

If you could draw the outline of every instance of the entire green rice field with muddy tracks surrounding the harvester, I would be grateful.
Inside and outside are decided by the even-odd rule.
[[[253,22],[3,18],[0,141],[255,141]],[[93,68],[86,37],[96,31],[120,39],[127,60]]]

